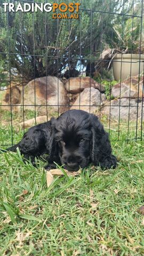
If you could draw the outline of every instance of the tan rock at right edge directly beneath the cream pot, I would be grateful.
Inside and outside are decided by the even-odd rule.
[[[142,98],[143,79],[138,77],[131,77],[125,79],[123,82],[115,84],[111,89],[111,94],[114,98]],[[143,91],[144,97],[144,91]]]

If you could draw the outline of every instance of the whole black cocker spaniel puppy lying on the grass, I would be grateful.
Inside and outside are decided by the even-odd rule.
[[[83,110],[68,110],[57,119],[31,127],[22,140],[7,149],[19,147],[25,159],[48,154],[46,169],[63,165],[68,171],[78,171],[90,163],[103,168],[115,168],[117,158],[111,154],[108,133],[97,116]]]

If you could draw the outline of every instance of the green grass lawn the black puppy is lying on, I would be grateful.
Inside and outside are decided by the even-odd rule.
[[[19,152],[1,154],[0,255],[144,255],[144,145],[127,144],[127,127],[121,130],[121,141],[111,131],[115,170],[90,166],[77,177],[55,177],[50,188],[43,162],[34,167]],[[1,143],[11,143],[10,135],[10,126],[1,128]]]

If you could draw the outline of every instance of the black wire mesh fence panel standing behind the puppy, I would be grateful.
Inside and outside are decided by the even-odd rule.
[[[6,12],[3,3],[0,122],[9,132],[1,147],[18,142],[28,119],[74,108],[98,115],[111,139],[142,140],[143,0],[82,0],[74,12],[62,11],[69,1],[55,12],[15,12],[46,1],[7,1]]]

